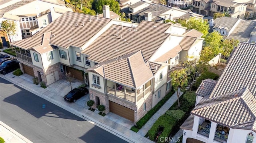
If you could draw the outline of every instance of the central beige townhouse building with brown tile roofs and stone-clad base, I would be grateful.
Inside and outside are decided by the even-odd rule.
[[[34,36],[11,45],[18,48],[22,71],[47,85],[66,71],[83,80],[73,68],[87,72],[94,108],[102,104],[106,114],[136,123],[170,91],[168,70],[187,55],[200,54],[201,36],[174,24],[132,24],[66,12]]]

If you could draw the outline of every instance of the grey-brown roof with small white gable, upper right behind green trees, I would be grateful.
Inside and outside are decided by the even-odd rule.
[[[216,18],[216,20],[217,19],[218,18]],[[218,20],[218,22],[214,25],[212,29],[222,26],[222,27],[228,27],[228,29],[230,30],[238,20],[239,20],[238,18],[222,17]]]

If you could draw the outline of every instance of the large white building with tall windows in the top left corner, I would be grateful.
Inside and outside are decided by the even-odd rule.
[[[17,25],[17,34],[11,37],[12,41],[30,37],[34,33],[30,28],[35,29],[38,24],[48,25],[61,13],[72,11],[70,8],[66,8],[65,2],[62,0],[4,0],[1,2],[3,5],[0,6],[0,22],[6,19],[13,20]],[[38,21],[37,17],[40,14],[45,14],[46,11],[50,13],[50,8],[53,7],[51,16],[54,15],[54,18],[46,14],[47,16],[42,21]],[[4,40],[8,41],[8,39]]]

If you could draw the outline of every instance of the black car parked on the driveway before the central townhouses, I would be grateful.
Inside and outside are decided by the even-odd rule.
[[[89,93],[89,90],[85,87],[75,88],[75,89],[71,90],[70,92],[68,92],[68,94],[66,94],[64,96],[64,100],[66,100],[68,102],[76,102],[76,100],[78,100],[79,98],[81,98],[82,96],[84,96],[88,93]]]

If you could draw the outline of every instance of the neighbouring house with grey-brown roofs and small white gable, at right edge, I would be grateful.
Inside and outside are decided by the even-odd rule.
[[[223,39],[235,39],[240,42],[255,43],[255,21],[229,17],[216,18],[215,21],[213,19],[210,21],[212,31],[218,31],[223,36]]]

